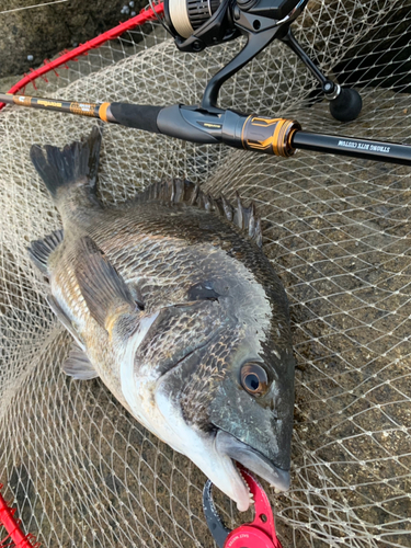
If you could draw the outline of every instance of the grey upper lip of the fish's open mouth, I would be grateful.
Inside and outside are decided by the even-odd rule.
[[[218,453],[227,455],[240,463],[251,472],[260,476],[279,491],[287,491],[290,484],[289,470],[284,470],[271,463],[264,455],[250,445],[240,442],[236,436],[224,430],[218,430],[215,438]]]

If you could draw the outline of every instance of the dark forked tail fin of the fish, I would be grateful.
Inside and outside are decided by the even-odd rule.
[[[49,193],[56,197],[57,190],[87,178],[89,187],[95,190],[98,181],[101,129],[94,126],[89,137],[81,141],[66,145],[62,150],[52,145],[44,148],[47,158],[38,145],[30,149],[30,158]]]

